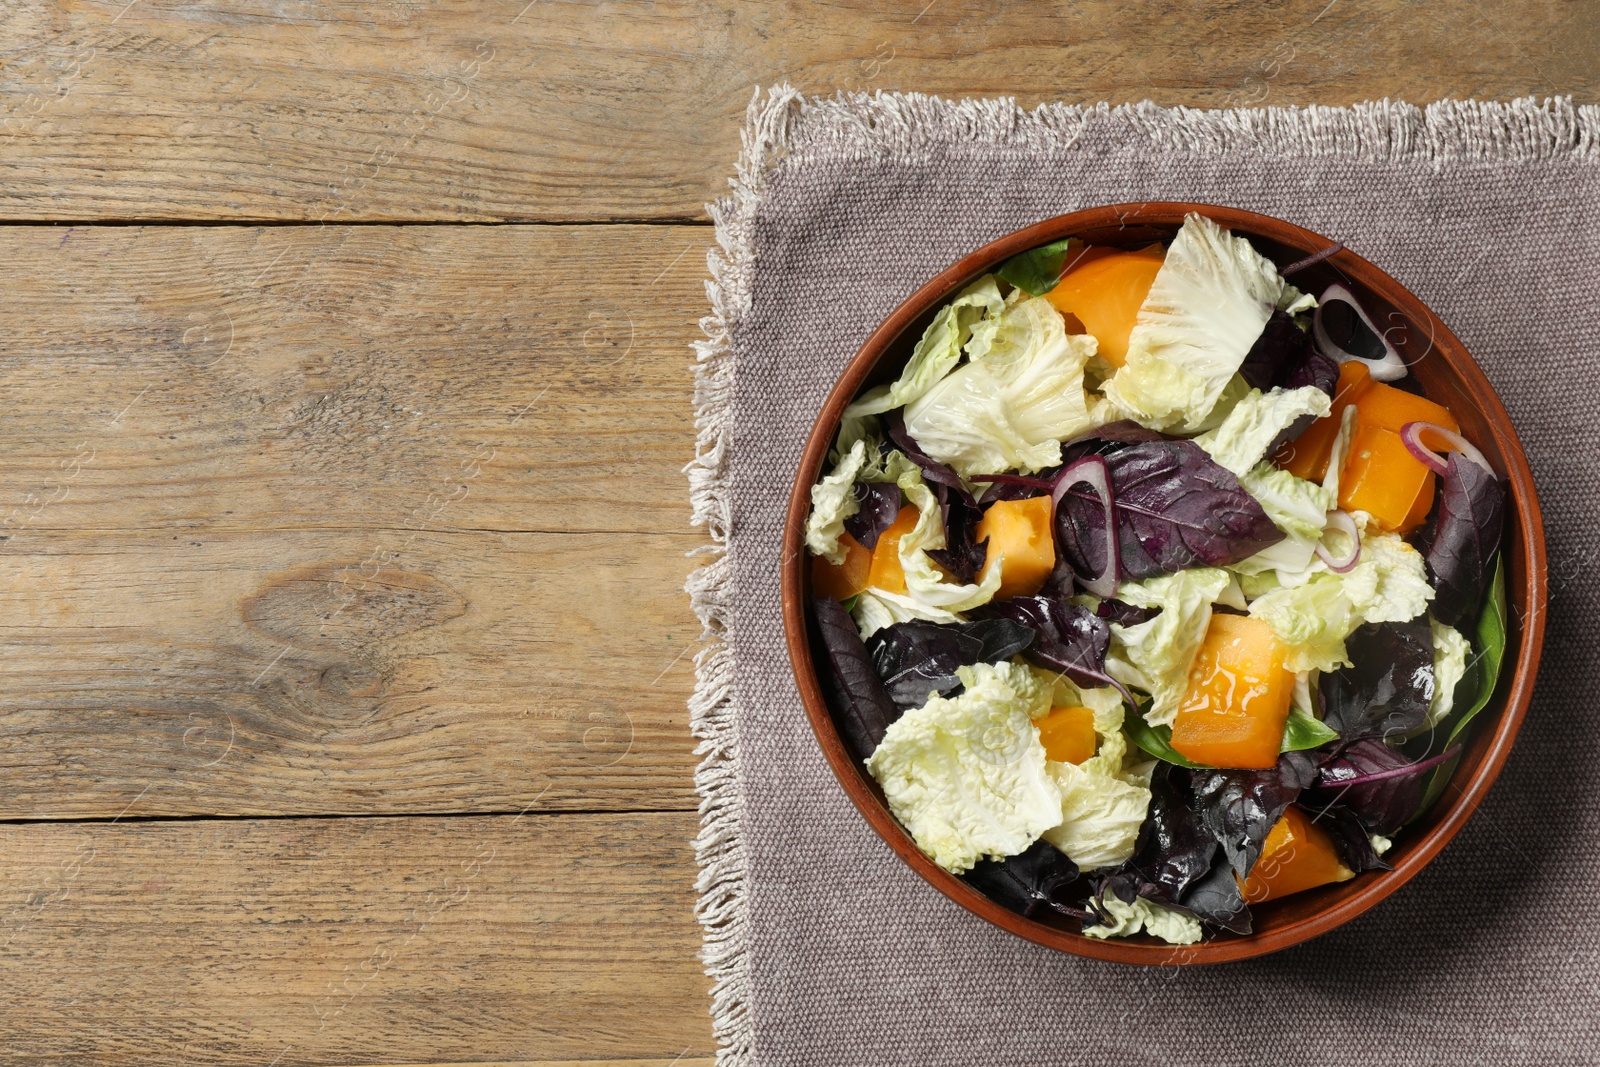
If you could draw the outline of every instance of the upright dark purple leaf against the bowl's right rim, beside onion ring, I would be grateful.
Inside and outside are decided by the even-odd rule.
[[[1418,534],[1434,584],[1434,616],[1459,627],[1477,617],[1494,571],[1506,528],[1506,485],[1493,474],[1450,453],[1438,502]]]

